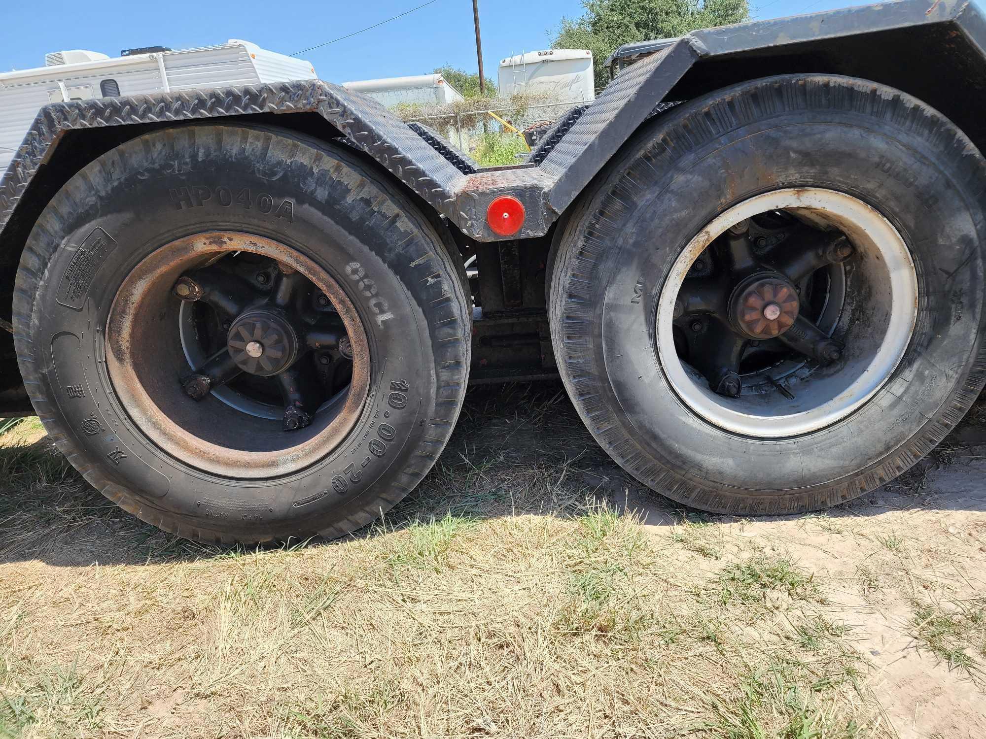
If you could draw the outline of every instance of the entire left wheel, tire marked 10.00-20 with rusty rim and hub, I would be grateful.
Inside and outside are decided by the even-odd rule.
[[[471,320],[457,260],[348,147],[159,130],[39,217],[17,276],[20,367],[49,436],[144,521],[208,542],[337,537],[410,492],[456,424]]]

